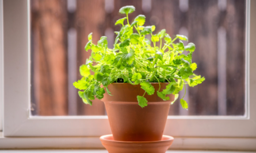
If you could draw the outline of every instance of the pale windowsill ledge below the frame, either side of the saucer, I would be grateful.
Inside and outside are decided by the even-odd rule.
[[[256,151],[255,138],[174,138],[171,145],[171,150],[208,150],[196,152],[216,152],[209,150],[232,150],[232,151]],[[105,153],[99,137],[3,137],[0,132],[0,153],[2,150],[8,149],[10,152],[16,152],[13,149],[34,150],[37,152],[44,152],[45,150],[38,150],[41,148],[56,149],[51,152],[58,152],[62,149],[64,152],[92,152]],[[66,150],[65,150],[66,149]],[[88,150],[87,150],[88,149]],[[89,150],[97,149],[97,150]],[[13,150],[13,151],[12,151]],[[19,151],[19,152],[20,152]],[[25,152],[29,152],[25,151]],[[94,151],[94,152],[93,152]],[[97,152],[95,152],[97,151]],[[5,151],[6,152],[6,151]],[[61,151],[63,152],[63,151]],[[169,151],[169,153],[178,152],[195,152],[195,151]],[[107,153],[107,152],[106,152]],[[220,151],[221,153],[221,151]],[[242,153],[242,152],[238,152]],[[255,152],[256,153],[256,152]]]

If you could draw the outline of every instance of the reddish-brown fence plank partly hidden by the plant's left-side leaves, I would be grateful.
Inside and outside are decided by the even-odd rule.
[[[85,45],[88,42],[87,36],[93,33],[93,43],[97,44],[101,36],[104,36],[105,30],[105,10],[104,0],[98,1],[77,1],[77,14],[75,19],[77,29],[77,62],[78,79],[79,66],[85,64],[86,58],[89,58],[91,51],[85,51]],[[105,115],[105,106],[101,100],[93,100],[93,105],[86,105],[78,97],[78,115]]]

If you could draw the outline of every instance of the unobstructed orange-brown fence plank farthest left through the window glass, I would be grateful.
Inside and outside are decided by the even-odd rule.
[[[37,115],[67,115],[66,1],[35,0],[31,6],[32,103]]]

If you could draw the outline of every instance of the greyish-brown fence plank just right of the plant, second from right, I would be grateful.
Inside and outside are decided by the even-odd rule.
[[[215,0],[189,1],[189,42],[196,44],[194,73],[205,77],[204,83],[189,90],[190,115],[217,115],[217,28]]]

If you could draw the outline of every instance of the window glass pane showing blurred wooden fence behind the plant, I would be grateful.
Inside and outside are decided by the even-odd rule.
[[[100,100],[83,104],[72,83],[81,79],[79,66],[90,56],[87,35],[93,32],[94,43],[106,36],[113,48],[120,30],[114,23],[126,5],[136,7],[130,22],[144,14],[155,32],[184,34],[196,44],[195,73],[205,81],[186,86],[188,111],[177,100],[170,115],[244,115],[245,0],[30,0],[33,115],[106,115]]]

